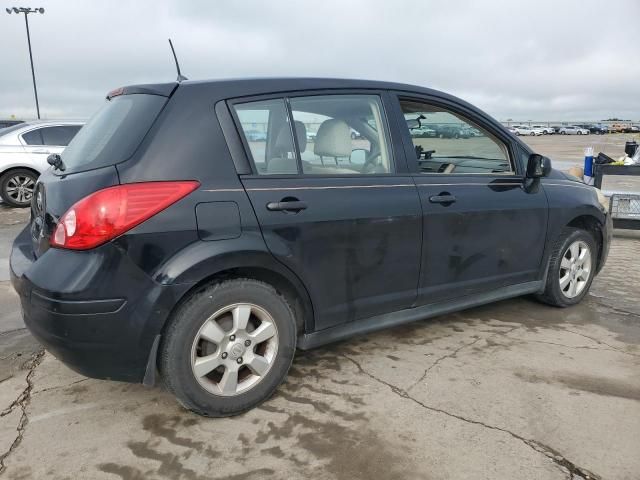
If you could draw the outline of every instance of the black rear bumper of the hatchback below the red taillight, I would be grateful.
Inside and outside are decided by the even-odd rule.
[[[112,244],[35,260],[28,228],[10,270],[24,322],[49,352],[85,376],[127,382],[142,382],[155,337],[190,287],[153,282]]]

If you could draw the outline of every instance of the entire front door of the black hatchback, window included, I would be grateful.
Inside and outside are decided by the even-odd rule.
[[[395,99],[424,214],[417,303],[538,280],[547,198],[542,189],[523,188],[513,139],[487,115],[451,98],[400,92]],[[410,132],[408,120],[434,134]]]

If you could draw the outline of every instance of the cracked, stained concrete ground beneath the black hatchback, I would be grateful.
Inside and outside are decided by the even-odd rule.
[[[640,236],[592,294],[528,298],[299,353],[276,395],[205,419],[42,354],[1,283],[8,479],[638,479]],[[5,326],[6,325],[6,326]]]

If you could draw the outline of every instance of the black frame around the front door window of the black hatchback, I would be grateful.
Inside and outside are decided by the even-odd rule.
[[[400,135],[402,136],[405,148],[405,154],[407,157],[407,166],[409,168],[409,172],[411,175],[419,175],[420,177],[436,177],[436,178],[464,178],[464,177],[489,177],[489,178],[523,178],[523,171],[519,161],[516,161],[516,152],[514,151],[514,146],[512,140],[505,135],[504,132],[500,131],[496,128],[495,125],[490,123],[488,119],[482,115],[480,112],[475,111],[461,103],[457,103],[455,101],[451,101],[446,98],[420,94],[417,92],[411,91],[394,91],[394,104],[396,107],[396,118],[398,123],[398,128],[400,129]],[[498,173],[498,172],[464,172],[464,173],[424,173],[420,171],[418,166],[418,162],[415,159],[415,150],[413,141],[411,140],[411,135],[406,128],[403,128],[404,115],[402,111],[401,101],[409,100],[414,102],[425,103],[430,106],[443,108],[447,111],[450,111],[453,114],[459,115],[462,119],[467,119],[475,124],[476,126],[486,130],[495,140],[500,141],[506,148],[507,155],[509,156],[508,160],[511,165],[511,171],[506,173]]]

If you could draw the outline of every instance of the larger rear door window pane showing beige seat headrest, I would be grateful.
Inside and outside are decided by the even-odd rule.
[[[393,171],[379,97],[295,97],[290,103],[303,173],[374,175]]]

